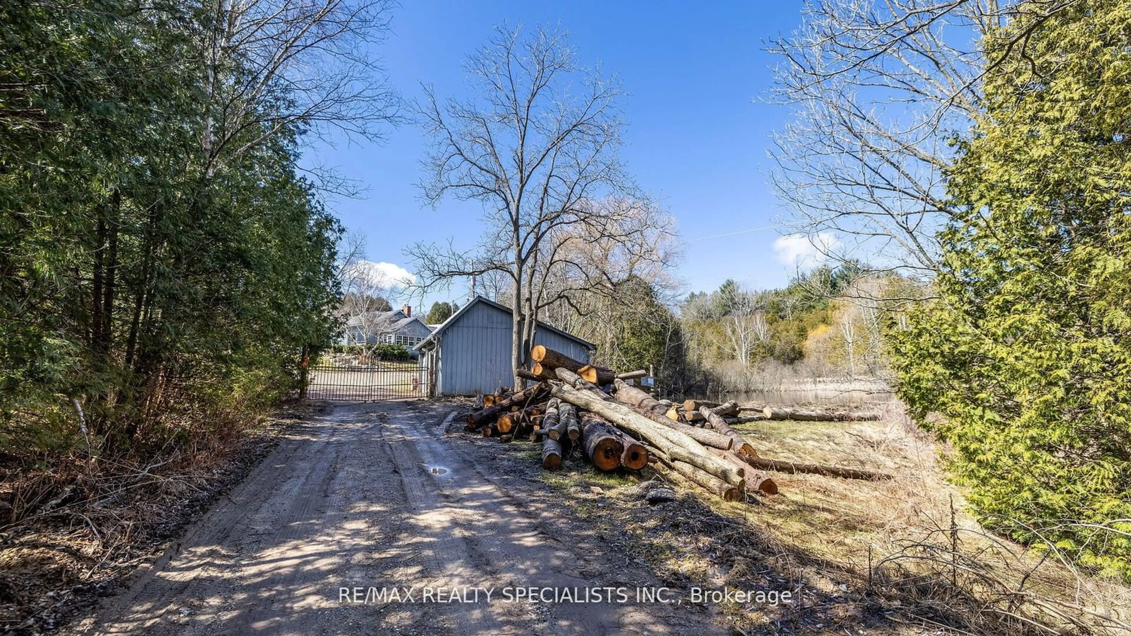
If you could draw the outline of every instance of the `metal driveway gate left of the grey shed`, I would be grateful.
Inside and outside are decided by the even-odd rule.
[[[307,372],[307,397],[372,402],[428,397],[432,373],[424,361],[359,363],[355,359],[323,359]]]

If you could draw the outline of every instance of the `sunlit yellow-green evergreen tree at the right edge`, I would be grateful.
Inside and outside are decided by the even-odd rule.
[[[895,335],[899,395],[987,525],[1131,576],[1131,6],[1016,15],[984,42],[1000,63],[938,300]]]

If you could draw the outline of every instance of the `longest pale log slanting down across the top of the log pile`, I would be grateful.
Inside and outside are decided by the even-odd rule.
[[[551,389],[551,394],[562,402],[569,402],[579,409],[596,413],[618,428],[647,440],[648,444],[664,450],[673,459],[694,465],[731,485],[742,483],[742,469],[715,457],[687,433],[649,420],[633,411],[631,406],[607,401],[599,392],[579,390],[568,386],[555,386]],[[731,441],[729,438],[725,439],[727,442]]]

